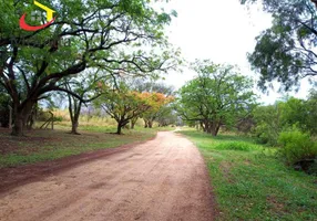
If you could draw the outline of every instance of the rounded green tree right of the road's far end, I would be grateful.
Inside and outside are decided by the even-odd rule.
[[[221,126],[232,126],[255,106],[250,80],[233,66],[196,61],[198,76],[180,90],[176,109],[184,120],[198,122],[204,131],[217,136]]]

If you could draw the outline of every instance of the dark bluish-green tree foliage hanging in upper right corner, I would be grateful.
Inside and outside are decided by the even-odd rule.
[[[253,3],[256,0],[241,0]],[[264,10],[273,14],[273,27],[257,36],[248,60],[260,74],[264,91],[277,80],[282,90],[298,86],[304,77],[316,82],[317,13],[310,0],[263,0]]]

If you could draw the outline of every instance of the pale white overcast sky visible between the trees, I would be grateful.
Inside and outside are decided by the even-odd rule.
[[[233,64],[242,74],[258,78],[258,74],[250,70],[246,54],[253,52],[255,38],[272,24],[272,17],[263,12],[259,3],[249,9],[239,0],[170,0],[168,3],[162,0],[155,4],[166,12],[177,11],[178,15],[166,28],[166,34],[170,42],[181,49],[186,61],[209,59],[215,63]],[[165,78],[166,84],[180,88],[194,76],[193,71],[184,67],[183,73],[171,72]],[[309,83],[303,81],[298,92],[288,94],[305,98],[309,87]],[[284,96],[277,90],[278,85],[269,94],[257,88],[255,92],[260,103],[273,104]]]

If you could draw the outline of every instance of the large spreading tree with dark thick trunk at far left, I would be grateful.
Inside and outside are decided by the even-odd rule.
[[[23,1],[1,2],[0,84],[13,103],[12,135],[23,135],[33,105],[48,93],[62,91],[80,99],[61,84],[86,69],[99,67],[113,75],[157,75],[176,64],[164,36],[164,27],[175,12],[158,13],[147,0],[41,3],[58,17],[45,29],[27,32],[19,28],[19,19],[34,7]],[[27,22],[35,24],[31,17]],[[166,51],[155,50],[158,45]]]

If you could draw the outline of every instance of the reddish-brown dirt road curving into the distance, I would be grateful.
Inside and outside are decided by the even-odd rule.
[[[213,220],[203,158],[158,133],[125,151],[54,171],[0,193],[1,221]]]

